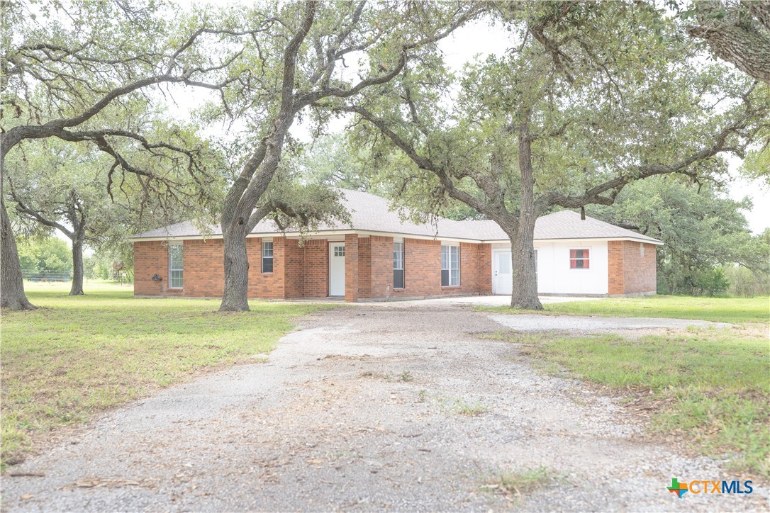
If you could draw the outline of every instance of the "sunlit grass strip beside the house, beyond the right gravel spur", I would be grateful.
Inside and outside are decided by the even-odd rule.
[[[678,295],[653,295],[643,298],[606,298],[596,301],[569,301],[544,305],[546,314],[601,315],[604,317],[665,317],[703,321],[770,321],[770,298],[693,298]],[[532,313],[511,310],[507,306],[479,307],[479,310],[503,313]]]

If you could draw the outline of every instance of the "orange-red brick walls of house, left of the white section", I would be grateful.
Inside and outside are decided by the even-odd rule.
[[[169,290],[166,242],[134,244],[135,295],[221,297],[224,288],[222,239],[183,242],[184,288]],[[273,272],[262,272],[262,239],[247,238],[250,298],[326,298],[329,242],[273,238]],[[652,261],[654,262],[654,250]],[[441,286],[441,243],[404,240],[405,287],[393,290],[393,238],[345,237],[345,298],[409,298],[491,293],[490,245],[460,245],[460,286]],[[152,281],[158,274],[162,281]],[[653,275],[654,282],[654,275]]]

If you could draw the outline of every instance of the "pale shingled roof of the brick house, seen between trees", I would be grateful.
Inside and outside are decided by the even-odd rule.
[[[323,235],[324,232],[371,232],[373,234],[393,234],[417,236],[421,238],[453,238],[469,242],[507,242],[505,232],[494,221],[453,221],[439,218],[437,223],[415,224],[409,220],[402,221],[398,212],[390,209],[390,203],[385,198],[368,192],[343,190],[343,203],[350,212],[350,223],[322,224],[313,234]],[[263,219],[252,230],[252,235],[281,235],[275,223]],[[286,232],[286,235],[296,235],[296,232]],[[180,222],[164,226],[149,232],[134,235],[135,240],[157,238],[219,238],[222,229],[219,225],[210,225],[203,231],[192,222]],[[554,214],[544,215],[537,219],[534,228],[535,240],[557,240],[576,238],[607,238],[632,239],[651,244],[662,245],[657,239],[632,232],[610,223],[599,221],[586,216],[581,220],[580,214],[571,210],[563,210]]]

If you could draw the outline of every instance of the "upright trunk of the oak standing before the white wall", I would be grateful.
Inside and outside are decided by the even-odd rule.
[[[534,173],[532,172],[532,137],[529,133],[529,118],[519,129],[519,172],[521,173],[521,200],[519,203],[518,229],[511,238],[513,257],[514,291],[511,294],[511,308],[542,310],[537,298],[537,281],[534,258],[534,223],[537,212],[534,206]]]

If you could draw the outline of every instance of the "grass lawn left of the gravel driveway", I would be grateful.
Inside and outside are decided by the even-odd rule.
[[[35,311],[2,312],[2,461],[22,458],[32,437],[186,381],[255,361],[293,319],[335,305],[250,301],[217,314],[218,300],[135,299],[119,285],[26,284]]]

